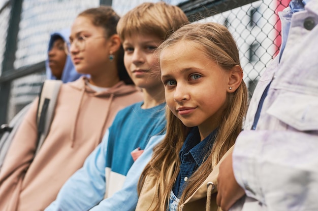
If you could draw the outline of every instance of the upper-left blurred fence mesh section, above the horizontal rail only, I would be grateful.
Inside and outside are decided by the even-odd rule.
[[[24,0],[14,67],[45,60],[50,33],[70,27],[78,13],[97,6],[99,0]]]

